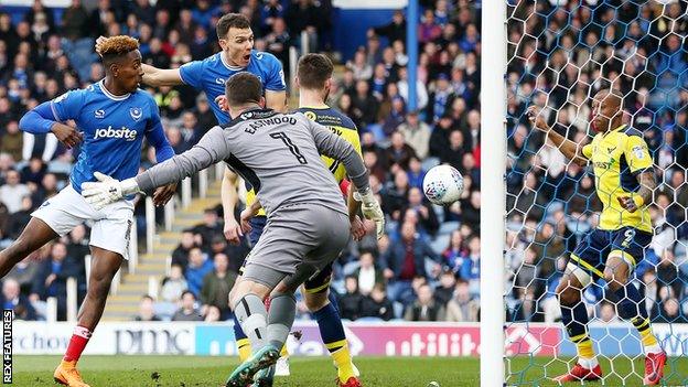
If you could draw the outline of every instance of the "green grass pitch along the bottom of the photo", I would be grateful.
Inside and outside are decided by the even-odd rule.
[[[60,356],[14,356],[17,386],[51,386]],[[441,387],[480,385],[480,361],[474,357],[409,358],[356,357],[366,387],[426,387],[432,380]],[[556,386],[548,378],[567,369],[570,358],[512,357],[507,364],[509,386]],[[236,358],[200,356],[84,356],[79,369],[86,383],[97,386],[195,387],[221,386],[237,365]],[[604,384],[587,386],[642,386],[642,358],[602,359]],[[335,369],[326,357],[292,357],[292,375],[277,378],[276,387],[335,386]],[[580,384],[570,384],[574,386]],[[688,385],[688,358],[670,358],[663,385]]]

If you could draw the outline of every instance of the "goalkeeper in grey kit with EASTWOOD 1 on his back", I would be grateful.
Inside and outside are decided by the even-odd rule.
[[[375,221],[378,237],[384,232],[383,212],[354,147],[301,112],[264,109],[261,93],[257,76],[246,72],[234,75],[226,84],[229,114],[236,117],[233,121],[214,127],[191,150],[137,178],[119,182],[98,173],[100,182],[82,186],[83,195],[98,208],[225,161],[255,187],[257,201],[241,214],[241,226],[248,232],[248,221],[260,206],[268,214],[267,226],[246,260],[230,302],[254,351],[227,381],[241,387],[279,357],[295,314],[293,292],[348,243],[355,213],[348,213],[321,153],[344,164],[362,196],[364,216]],[[268,315],[262,300],[273,289]],[[264,374],[258,375],[259,380]]]

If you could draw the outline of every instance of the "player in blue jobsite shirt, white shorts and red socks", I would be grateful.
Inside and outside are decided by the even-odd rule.
[[[69,184],[31,214],[19,238],[0,252],[0,276],[4,277],[41,246],[86,221],[93,222],[88,291],[65,356],[54,373],[55,381],[69,387],[88,387],[76,363],[103,315],[112,277],[127,257],[133,218],[132,197],[96,209],[82,197],[82,183],[98,180],[97,172],[115,179],[136,176],[143,138],[155,148],[159,162],[174,155],[160,123],[155,101],[138,88],[143,76],[138,49],[138,41],[130,36],[105,40],[100,44],[106,69],[103,80],[41,104],[20,121],[22,130],[53,132],[67,147],[83,141]],[[63,123],[67,120],[74,120],[76,129]],[[159,189],[155,201],[166,202],[175,187],[170,184]]]

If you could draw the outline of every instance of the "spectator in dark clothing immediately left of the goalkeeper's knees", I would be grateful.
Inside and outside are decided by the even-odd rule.
[[[203,278],[201,303],[204,308],[217,307],[223,320],[229,318],[229,291],[234,287],[237,275],[228,270],[229,258],[218,252],[213,258],[214,270]]]

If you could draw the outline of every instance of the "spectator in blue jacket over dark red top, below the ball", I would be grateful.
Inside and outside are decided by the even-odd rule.
[[[436,262],[438,255],[416,234],[412,223],[404,223],[401,226],[401,240],[389,247],[389,250],[380,256],[380,267],[384,269],[388,282],[388,294],[391,300],[402,303],[411,303],[413,293],[411,280],[416,276],[430,278],[426,271],[426,258]]]

